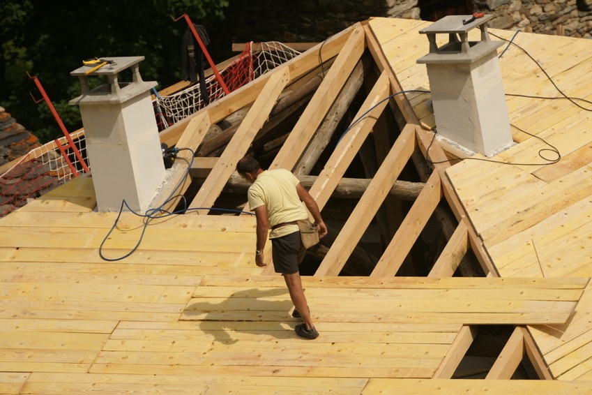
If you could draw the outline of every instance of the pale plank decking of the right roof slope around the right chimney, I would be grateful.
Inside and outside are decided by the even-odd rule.
[[[381,23],[384,27],[384,22]],[[416,31],[423,26],[421,23],[409,25]],[[374,22],[371,21],[370,26],[373,27]],[[495,29],[492,32],[508,40],[515,34]],[[401,49],[398,41],[398,38],[386,41],[384,50],[393,54],[389,61],[404,89],[429,87],[420,65],[406,63],[407,56],[396,50]],[[589,40],[517,33],[513,42],[537,59],[567,96],[592,98],[583,83],[592,72]],[[549,45],[557,51],[549,51]],[[423,51],[427,52],[427,43],[423,43]],[[513,45],[499,62],[506,94],[559,100],[506,96],[517,144],[490,159],[517,164],[465,160],[449,167],[448,177],[500,276],[591,276],[592,107],[575,99],[584,107],[582,109],[561,98],[540,68]],[[435,126],[433,114],[423,105],[429,95],[413,96],[410,100],[418,116],[429,126]],[[422,114],[425,115],[422,117]],[[520,130],[556,147],[561,161],[552,164],[545,161],[541,156],[556,158],[549,150],[552,147]],[[547,151],[540,151],[545,149]],[[550,370],[559,380],[590,380],[592,377],[587,363],[592,357],[589,351],[592,334],[587,318],[592,304],[587,297],[589,292],[585,295],[570,325],[530,328]]]

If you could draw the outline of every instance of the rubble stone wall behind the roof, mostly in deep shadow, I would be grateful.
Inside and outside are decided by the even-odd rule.
[[[592,0],[586,1],[592,5]],[[496,29],[592,36],[592,13],[577,10],[576,0],[473,0],[472,3],[474,10],[496,15],[489,22]],[[245,41],[319,42],[370,17],[419,20],[419,5],[419,0],[298,0],[276,1],[273,5],[264,0],[231,1],[224,32],[211,31],[213,28],[208,31],[224,47],[228,42]]]

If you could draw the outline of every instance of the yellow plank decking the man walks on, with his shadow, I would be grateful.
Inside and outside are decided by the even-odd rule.
[[[77,202],[89,189],[90,178],[76,179],[47,199]],[[0,220],[0,389],[8,394],[399,387],[384,378],[431,378],[462,325],[566,322],[587,283],[305,277],[322,334],[309,342],[294,334],[282,278],[261,276],[252,260],[252,216],[155,221],[139,251],[105,262],[98,246],[116,213],[40,207],[54,206],[40,198]],[[141,225],[123,214],[104,253],[134,246]],[[24,240],[41,229],[45,237]],[[157,237],[167,232],[179,242]]]

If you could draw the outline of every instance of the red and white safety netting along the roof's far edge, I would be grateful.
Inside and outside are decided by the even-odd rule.
[[[246,45],[238,59],[220,71],[229,91],[234,91],[260,75],[298,56],[282,43],[260,43],[261,50],[254,52]],[[220,83],[212,75],[206,80],[209,103],[225,96]],[[199,84],[170,96],[155,95],[153,109],[159,131],[176,124],[206,105]],[[86,155],[84,131],[70,135],[86,168],[90,168]],[[72,177],[84,174],[85,166],[79,163],[66,137],[33,149],[9,170],[0,174],[0,217],[35,200]]]

